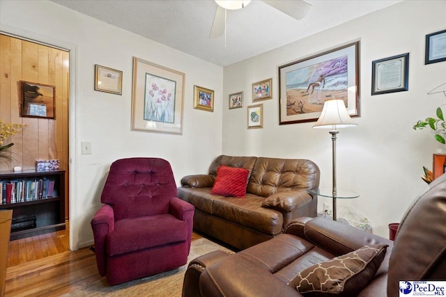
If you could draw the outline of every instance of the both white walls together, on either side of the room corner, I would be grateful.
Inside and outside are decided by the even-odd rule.
[[[331,186],[331,141],[313,123],[279,126],[278,68],[305,56],[360,39],[361,117],[342,129],[338,142],[338,188],[360,193],[340,200],[371,220],[376,234],[401,219],[426,184],[422,166],[444,148],[429,131],[413,131],[419,119],[434,115],[443,95],[426,95],[446,82],[446,63],[424,65],[424,36],[445,29],[445,1],[403,1],[323,33],[247,61],[218,67],[139,35],[118,29],[50,1],[0,1],[0,29],[40,35],[52,44],[75,46],[75,90],[70,111],[74,177],[70,193],[70,240],[73,249],[91,243],[90,220],[100,207],[107,170],[128,156],[160,156],[171,162],[177,184],[184,175],[206,172],[220,153],[306,158],[321,168],[321,186]],[[39,38],[40,39],[40,38]],[[409,90],[371,96],[371,61],[410,53]],[[137,56],[186,74],[183,135],[130,131],[132,57]],[[93,88],[94,65],[123,71],[123,95]],[[254,81],[272,77],[273,99],[263,101],[263,129],[247,129],[247,107]],[[223,85],[222,85],[223,81]],[[193,86],[215,90],[213,113],[193,109]],[[243,109],[228,109],[230,93],[244,91]],[[74,134],[74,135],[73,135]],[[91,141],[93,154],[80,154]],[[322,203],[328,200],[320,200]]]

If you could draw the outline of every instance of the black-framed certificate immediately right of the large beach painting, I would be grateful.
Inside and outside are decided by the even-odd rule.
[[[408,90],[409,53],[371,62],[371,95]]]

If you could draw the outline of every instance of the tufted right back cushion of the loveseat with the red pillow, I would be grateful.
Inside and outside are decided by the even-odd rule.
[[[310,190],[318,185],[318,181],[319,170],[312,161],[259,157],[249,179],[247,193],[268,197],[293,189]]]

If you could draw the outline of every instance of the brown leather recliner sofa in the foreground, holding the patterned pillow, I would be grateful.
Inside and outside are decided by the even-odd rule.
[[[399,281],[446,280],[446,175],[408,209],[393,243],[326,218],[299,218],[284,234],[235,255],[217,250],[192,260],[183,296],[302,296],[296,279],[305,268],[373,244],[387,244],[387,252],[355,294],[305,296],[396,297]]]

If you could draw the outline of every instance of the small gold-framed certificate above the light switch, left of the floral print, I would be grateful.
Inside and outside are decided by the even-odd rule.
[[[123,72],[95,65],[95,90],[122,95],[123,93]]]

